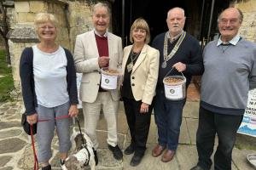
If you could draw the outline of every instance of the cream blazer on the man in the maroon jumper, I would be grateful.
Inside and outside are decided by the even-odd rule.
[[[109,68],[117,70],[122,63],[123,48],[120,37],[108,32]],[[83,73],[80,85],[80,99],[83,102],[93,103],[96,100],[100,82],[101,69],[98,65],[99,53],[94,31],[80,34],[76,38],[74,48],[74,63],[76,71]],[[119,90],[110,90],[114,101],[119,100]]]

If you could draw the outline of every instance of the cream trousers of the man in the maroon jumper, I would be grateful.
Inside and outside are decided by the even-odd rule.
[[[119,101],[113,101],[109,92],[99,92],[94,103],[83,102],[84,130],[89,135],[95,149],[99,143],[96,139],[96,126],[100,117],[101,110],[108,125],[108,144],[117,144],[117,112]]]

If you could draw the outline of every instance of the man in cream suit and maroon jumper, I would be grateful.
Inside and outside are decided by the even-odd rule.
[[[98,147],[96,125],[100,111],[108,123],[108,148],[117,160],[123,158],[117,145],[117,112],[119,91],[106,91],[101,88],[101,69],[108,67],[117,70],[122,65],[122,41],[108,32],[110,9],[106,3],[96,3],[92,9],[92,31],[80,34],[75,43],[74,62],[76,70],[83,73],[80,86],[80,99],[84,112],[85,133],[90,136],[94,147]]]

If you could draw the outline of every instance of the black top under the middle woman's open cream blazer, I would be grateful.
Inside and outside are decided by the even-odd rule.
[[[127,99],[134,99],[134,96],[132,94],[131,90],[131,71],[128,72],[127,65],[131,63],[131,57],[133,57],[133,65],[135,65],[138,56],[140,53],[133,54],[130,52],[129,57],[127,59],[126,65],[125,65],[125,75],[124,75],[124,81],[123,81],[123,86],[121,88],[121,96],[122,98],[127,98]],[[134,77],[133,77],[134,78]]]

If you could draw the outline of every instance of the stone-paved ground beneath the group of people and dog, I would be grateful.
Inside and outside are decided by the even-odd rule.
[[[33,169],[32,146],[27,135],[23,133],[20,128],[20,112],[22,111],[20,103],[21,102],[18,101],[0,104],[0,170]],[[79,116],[79,119],[83,125],[82,114]],[[97,169],[189,170],[197,161],[195,147],[197,124],[198,102],[187,102],[183,111],[183,124],[177,154],[171,162],[163,163],[160,161],[160,157],[154,158],[151,156],[151,150],[157,142],[157,129],[153,115],[148,137],[148,150],[138,167],[130,167],[129,162],[131,161],[131,156],[124,156],[123,161],[115,161],[113,159],[106,144],[106,122],[101,117],[97,127],[97,135],[100,141],[98,150],[99,165]],[[130,142],[130,135],[122,103],[120,103],[118,127],[119,146],[124,150]],[[216,139],[216,141],[218,141],[218,139]],[[239,135],[237,144],[233,152],[232,169],[253,170],[253,167],[250,167],[247,163],[246,156],[248,153],[256,153],[256,139]],[[57,146],[58,141],[55,138],[52,144],[54,157],[51,160],[51,164],[53,169],[60,169]]]

